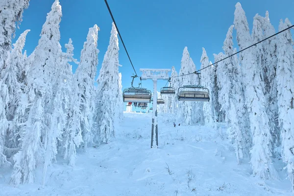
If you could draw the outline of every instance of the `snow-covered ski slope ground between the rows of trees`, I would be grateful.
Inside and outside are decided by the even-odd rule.
[[[124,113],[116,139],[77,153],[75,167],[57,158],[42,188],[36,183],[12,186],[12,170],[0,171],[0,196],[290,196],[280,160],[280,179],[250,175],[249,163],[237,165],[226,129],[173,127],[159,116],[159,148],[150,148],[151,115]]]

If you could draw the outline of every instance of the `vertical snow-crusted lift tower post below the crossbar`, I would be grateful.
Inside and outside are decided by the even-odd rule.
[[[154,136],[156,147],[158,147],[158,131],[157,131],[157,79],[153,79],[153,115],[152,115],[152,130],[151,130],[151,148],[154,144]],[[154,134],[155,131],[155,134]]]

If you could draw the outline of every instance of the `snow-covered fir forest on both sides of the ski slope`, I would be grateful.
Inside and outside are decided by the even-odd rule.
[[[30,30],[13,44],[12,37],[28,6],[29,0],[0,1],[0,169],[13,168],[10,182],[24,184],[35,183],[35,169],[42,168],[44,185],[48,167],[56,162],[57,155],[74,166],[77,153],[115,138],[125,104],[115,25],[95,81],[98,25],[89,28],[78,62],[73,58],[71,39],[65,45],[66,52],[62,51],[62,9],[55,0],[38,45],[26,54],[23,49]],[[292,26],[286,18],[274,29],[266,12],[265,17],[254,17],[250,32],[241,4],[235,7],[234,23],[224,35],[222,52],[214,54],[214,62]],[[238,49],[234,48],[233,31],[237,33]],[[275,179],[278,174],[272,160],[281,158],[294,189],[291,28],[214,66],[202,50],[201,69],[206,69],[185,75],[196,72],[185,47],[180,71],[172,67],[170,86],[175,94],[183,85],[205,86],[210,101],[180,102],[176,96],[159,95],[165,100],[158,106],[159,114],[172,115],[186,125],[214,127],[225,123],[238,164],[249,160],[254,176]],[[78,65],[75,73],[73,63]]]

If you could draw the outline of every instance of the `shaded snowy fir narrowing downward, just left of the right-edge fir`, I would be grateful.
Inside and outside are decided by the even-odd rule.
[[[266,17],[256,15],[253,21],[252,41],[257,43],[275,33],[274,27],[270,24],[269,12],[266,12]],[[255,46],[256,63],[262,70],[261,79],[264,83],[263,91],[269,107],[267,113],[270,120],[270,132],[273,137],[273,142],[276,145],[280,144],[279,129],[276,117],[278,115],[277,108],[277,90],[276,90],[276,66],[277,66],[277,46],[276,37],[272,37]],[[272,145],[273,147],[274,145]]]

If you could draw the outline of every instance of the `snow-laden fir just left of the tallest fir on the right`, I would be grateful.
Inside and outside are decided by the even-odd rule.
[[[233,28],[234,25],[229,27],[226,39],[223,42],[222,49],[225,54],[220,53],[215,56],[215,61],[224,59],[236,52],[233,47]],[[236,55],[218,63],[217,78],[218,99],[221,110],[225,112],[227,134],[234,143],[237,162],[240,164],[244,154],[249,155],[251,141],[245,110],[241,69]]]

